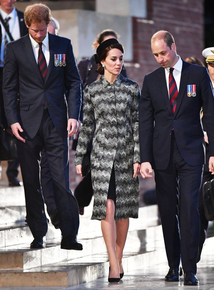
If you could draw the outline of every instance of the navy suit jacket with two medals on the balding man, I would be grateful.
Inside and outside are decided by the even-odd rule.
[[[187,96],[187,85],[196,85],[196,96]],[[183,61],[176,111],[171,112],[164,68],[145,75],[139,103],[139,141],[141,162],[157,170],[169,164],[171,130],[174,128],[178,150],[191,166],[204,164],[204,133],[200,111],[214,156],[214,98],[206,68]]]

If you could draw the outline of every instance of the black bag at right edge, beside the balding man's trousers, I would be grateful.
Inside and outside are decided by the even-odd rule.
[[[203,184],[203,202],[206,219],[214,221],[214,179]]]

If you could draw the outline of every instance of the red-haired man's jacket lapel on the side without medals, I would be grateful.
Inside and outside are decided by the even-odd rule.
[[[36,59],[34,56],[34,52],[33,52],[33,48],[32,48],[32,44],[31,44],[29,35],[26,35],[25,37],[23,37],[22,42],[24,43],[23,50],[24,50],[24,55],[25,55],[26,61],[28,61],[30,63],[30,65],[32,66],[32,68],[34,69],[35,76],[37,76],[40,79],[40,81],[42,81],[44,83],[44,79],[41,75],[38,64],[36,63]]]

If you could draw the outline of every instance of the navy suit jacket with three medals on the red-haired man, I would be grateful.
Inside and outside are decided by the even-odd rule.
[[[3,73],[3,97],[9,126],[19,122],[23,138],[33,138],[40,126],[44,104],[56,131],[67,137],[67,120],[79,119],[81,79],[71,41],[48,34],[50,60],[44,81],[36,63],[29,35],[7,44]],[[55,66],[54,55],[66,54],[66,66]],[[67,100],[65,97],[67,92]],[[17,98],[19,95],[19,103]]]

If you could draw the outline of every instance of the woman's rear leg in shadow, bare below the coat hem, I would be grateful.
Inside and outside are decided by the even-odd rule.
[[[125,247],[127,233],[129,228],[129,218],[125,220],[117,220],[116,222],[116,255],[119,263],[120,273],[123,273],[122,258],[123,249]]]

